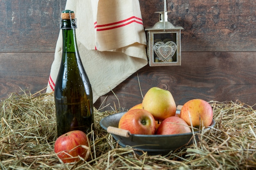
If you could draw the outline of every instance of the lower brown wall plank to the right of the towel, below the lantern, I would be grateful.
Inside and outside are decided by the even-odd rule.
[[[254,105],[255,58],[256,53],[252,52],[182,52],[181,66],[146,66],[118,85],[113,92],[99,98],[95,107],[108,105],[103,110],[112,110],[116,105],[129,109],[139,104],[142,95],[154,86],[169,90],[177,105],[183,105],[193,98],[206,101],[240,100]]]

